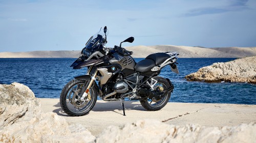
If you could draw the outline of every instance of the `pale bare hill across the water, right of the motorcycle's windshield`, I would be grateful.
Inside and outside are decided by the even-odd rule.
[[[204,48],[190,46],[174,45],[156,45],[156,46],[133,46],[126,47],[127,50],[135,51],[135,58],[144,58],[148,54],[155,52],[177,51],[180,58],[241,58],[245,56],[256,55],[256,47],[253,48]]]

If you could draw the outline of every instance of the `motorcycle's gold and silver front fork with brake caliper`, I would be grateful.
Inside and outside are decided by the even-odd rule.
[[[91,70],[92,70],[92,66],[88,69],[87,74],[89,74],[91,72]],[[93,76],[91,76],[91,80],[90,80],[89,84],[84,83],[84,86],[81,90],[81,94],[83,93],[82,97],[80,98],[81,101],[83,101],[85,97],[87,97],[88,100],[92,99],[89,89],[91,88],[93,82],[96,80],[97,74],[98,74],[98,70],[96,70],[95,73],[93,74]]]

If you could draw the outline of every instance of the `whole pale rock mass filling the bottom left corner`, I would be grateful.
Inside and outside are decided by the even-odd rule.
[[[39,99],[25,85],[0,84],[0,142],[90,142],[81,125],[68,125],[56,113],[43,113]]]

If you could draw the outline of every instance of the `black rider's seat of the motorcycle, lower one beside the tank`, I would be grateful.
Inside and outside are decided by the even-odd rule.
[[[140,62],[138,62],[134,69],[137,71],[137,72],[147,72],[147,71],[151,71],[151,69],[153,67],[155,67],[156,64],[153,60],[151,59],[144,59],[144,60],[141,60]]]

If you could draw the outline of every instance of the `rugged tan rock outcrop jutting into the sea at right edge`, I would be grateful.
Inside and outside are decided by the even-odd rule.
[[[188,81],[256,83],[256,56],[226,63],[214,63],[186,75]]]

